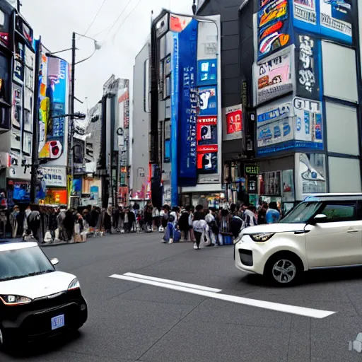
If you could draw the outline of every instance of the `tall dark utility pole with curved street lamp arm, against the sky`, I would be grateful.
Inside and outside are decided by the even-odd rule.
[[[87,39],[93,40],[94,42],[94,52],[87,57],[86,59],[83,59],[79,62],[76,62],[76,35],[78,35],[78,37],[86,37]],[[62,52],[66,52],[68,50],[71,50],[71,104],[70,104],[70,134],[71,134],[71,144],[70,144],[70,152],[69,152],[69,165],[71,165],[71,182],[73,182],[73,178],[74,178],[74,140],[73,140],[73,135],[74,135],[74,119],[76,119],[75,115],[74,115],[74,100],[76,99],[75,96],[75,92],[74,92],[74,88],[75,88],[75,68],[76,68],[76,64],[80,64],[83,62],[86,62],[86,60],[90,59],[93,54],[99,50],[102,45],[95,39],[93,39],[93,37],[88,37],[86,35],[82,35],[82,34],[78,34],[76,32],[73,32],[72,35],[72,44],[71,44],[71,48],[69,49],[64,49],[64,50],[59,50],[59,52],[54,52],[54,53],[47,53],[46,55],[54,55],[54,54],[58,54],[58,53],[62,53]],[[69,204],[70,204],[70,195],[69,195]]]

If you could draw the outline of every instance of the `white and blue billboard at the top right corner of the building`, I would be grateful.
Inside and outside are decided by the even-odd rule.
[[[358,1],[359,2],[359,1]],[[352,1],[320,0],[320,33],[352,43]]]

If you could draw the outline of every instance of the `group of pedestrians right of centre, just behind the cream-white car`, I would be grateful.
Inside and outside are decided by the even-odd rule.
[[[240,230],[263,223],[277,223],[281,212],[276,202],[263,202],[257,209],[251,204],[231,204],[230,208],[204,209],[204,206],[185,208],[164,205],[160,211],[163,243],[190,241],[194,249],[204,246],[231,245]]]

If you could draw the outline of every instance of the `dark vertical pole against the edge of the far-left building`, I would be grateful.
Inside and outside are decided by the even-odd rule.
[[[42,37],[39,37],[35,46],[35,69],[34,79],[37,79],[40,71],[40,52],[42,49]],[[39,82],[35,81],[34,86],[34,99],[39,95]],[[37,102],[33,104],[33,148],[31,153],[31,182],[30,182],[30,203],[34,204],[36,197],[36,184],[37,184],[37,170],[39,168],[39,110],[37,109]]]

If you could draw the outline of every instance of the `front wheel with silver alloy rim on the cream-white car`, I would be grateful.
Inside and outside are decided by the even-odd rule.
[[[293,286],[300,282],[303,275],[303,264],[291,252],[279,252],[268,260],[264,276],[271,284],[277,286]]]

